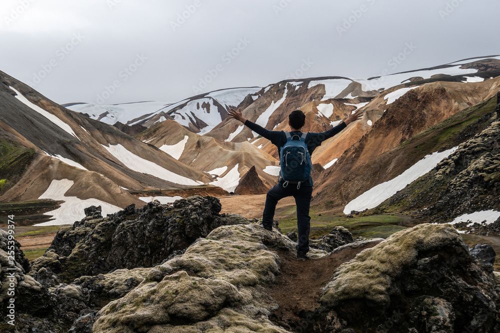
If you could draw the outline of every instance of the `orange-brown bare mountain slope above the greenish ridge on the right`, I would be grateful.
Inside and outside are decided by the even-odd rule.
[[[389,105],[371,129],[342,156],[342,163],[351,167],[363,164],[465,107],[493,96],[499,88],[500,77],[478,83],[427,83],[410,90]],[[394,87],[387,93],[397,89]],[[377,96],[371,103],[382,98]]]

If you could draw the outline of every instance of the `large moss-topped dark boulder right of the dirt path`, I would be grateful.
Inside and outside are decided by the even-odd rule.
[[[350,323],[373,327],[399,313],[391,325],[414,332],[431,332],[417,312],[436,305],[447,309],[441,324],[450,330],[493,332],[498,301],[492,269],[471,258],[450,224],[418,225],[362,251],[335,271],[320,298]]]

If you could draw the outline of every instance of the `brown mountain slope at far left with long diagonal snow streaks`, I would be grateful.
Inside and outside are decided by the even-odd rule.
[[[52,180],[68,179],[75,182],[71,196],[124,207],[140,201],[120,186],[145,190],[211,181],[154,146],[69,111],[3,72],[0,106],[0,134],[34,153],[25,178],[9,182],[0,200],[34,200]]]

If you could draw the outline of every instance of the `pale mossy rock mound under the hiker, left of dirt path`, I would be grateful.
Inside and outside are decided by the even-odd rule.
[[[93,332],[287,332],[268,320],[277,306],[263,286],[280,272],[273,250],[294,247],[255,223],[216,228],[102,308]]]

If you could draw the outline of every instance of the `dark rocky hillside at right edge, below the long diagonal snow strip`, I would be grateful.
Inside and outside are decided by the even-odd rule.
[[[491,104],[482,107],[491,109]],[[417,211],[421,219],[443,223],[463,214],[500,210],[500,121],[491,109],[458,136],[465,141],[453,153],[374,212],[404,208]]]

